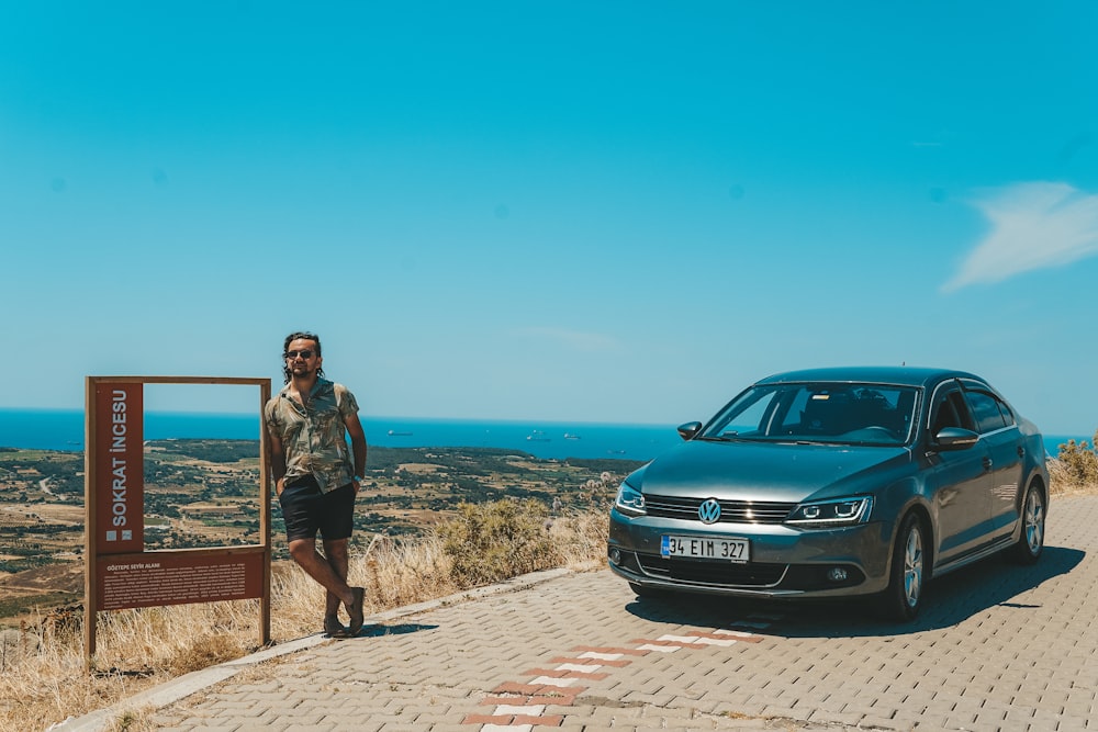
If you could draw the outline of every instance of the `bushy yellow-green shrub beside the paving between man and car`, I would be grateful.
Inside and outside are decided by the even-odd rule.
[[[458,510],[458,517],[439,523],[436,531],[459,587],[550,568],[562,559],[549,533],[549,509],[537,500],[461,504]]]

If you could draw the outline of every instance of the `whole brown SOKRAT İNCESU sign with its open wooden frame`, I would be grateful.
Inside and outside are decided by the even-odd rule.
[[[259,544],[145,551],[145,384],[259,387]],[[270,643],[270,441],[262,420],[270,396],[270,379],[86,378],[83,632],[89,665],[99,612],[124,608],[259,599],[259,643]]]

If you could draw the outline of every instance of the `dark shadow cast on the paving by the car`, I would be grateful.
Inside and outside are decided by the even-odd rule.
[[[906,624],[877,617],[872,598],[781,601],[670,594],[638,598],[626,610],[653,622],[727,629],[743,629],[751,616],[766,616],[763,621],[771,623],[766,634],[786,638],[904,635],[955,626],[996,606],[1040,611],[1041,605],[1015,598],[1068,574],[1084,556],[1086,552],[1078,549],[1045,547],[1041,560],[1031,566],[988,558],[927,585],[919,617]]]

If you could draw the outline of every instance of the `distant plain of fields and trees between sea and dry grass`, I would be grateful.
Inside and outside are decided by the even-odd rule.
[[[462,503],[533,497],[557,511],[605,506],[607,481],[642,463],[540,460],[489,448],[370,448],[352,549],[418,536]],[[609,476],[606,475],[609,473]],[[259,442],[145,446],[145,550],[259,543]],[[83,453],[0,448],[0,624],[83,598]],[[272,498],[276,561],[288,561]]]

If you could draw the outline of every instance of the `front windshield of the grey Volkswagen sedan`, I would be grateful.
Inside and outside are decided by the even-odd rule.
[[[740,394],[701,439],[904,444],[917,388],[886,384],[763,384]]]

